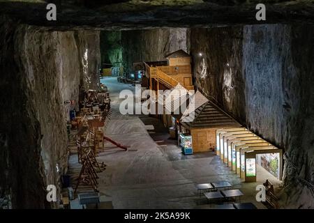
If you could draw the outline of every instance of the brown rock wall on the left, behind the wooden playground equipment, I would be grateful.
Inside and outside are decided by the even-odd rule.
[[[97,86],[99,33],[0,21],[0,195],[13,208],[55,207],[45,189],[68,166],[64,102],[78,99],[86,76]]]

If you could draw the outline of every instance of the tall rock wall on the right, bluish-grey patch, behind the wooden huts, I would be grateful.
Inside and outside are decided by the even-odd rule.
[[[285,208],[314,208],[313,31],[279,24],[191,30],[197,89],[284,148]]]

